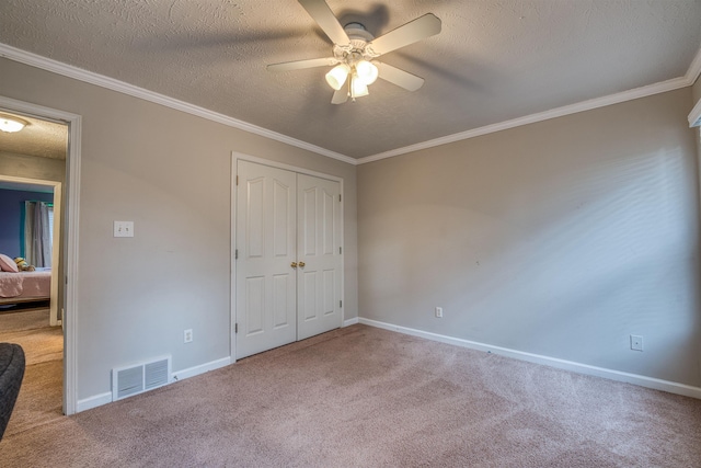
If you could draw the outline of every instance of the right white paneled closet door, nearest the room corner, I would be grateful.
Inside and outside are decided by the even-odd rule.
[[[340,193],[338,182],[297,175],[298,340],[341,327]]]

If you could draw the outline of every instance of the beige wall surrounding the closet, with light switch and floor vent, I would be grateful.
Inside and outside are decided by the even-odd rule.
[[[116,366],[230,355],[232,150],[344,179],[344,309],[357,316],[354,165],[11,60],[0,69],[0,95],[83,117],[79,400],[108,392]],[[113,238],[113,220],[135,221],[135,238]]]

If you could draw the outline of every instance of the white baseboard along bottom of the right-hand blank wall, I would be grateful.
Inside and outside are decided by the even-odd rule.
[[[607,369],[604,367],[590,366],[588,364],[575,363],[572,361],[559,359],[556,357],[543,356],[540,354],[525,353],[522,351],[509,350],[508,347],[492,346],[490,344],[479,343],[475,341],[463,340],[460,338],[447,336],[444,334],[430,333],[427,331],[400,327],[392,323],[380,322],[377,320],[360,318],[359,323],[377,327],[384,330],[397,331],[400,333],[411,334],[413,336],[425,338],[427,340],[439,341],[441,343],[453,344],[456,346],[469,347],[471,350],[484,351],[498,354],[501,356],[513,357],[530,363],[542,364],[550,367],[556,367],[565,370],[586,374],[597,377],[608,378],[610,380],[624,381],[627,384],[639,385],[641,387],[653,388],[655,390],[668,391],[670,393],[683,395],[701,399],[701,388],[692,387],[685,384],[678,384],[669,380],[662,380],[654,377],[646,377],[637,374],[629,374],[620,370]]]

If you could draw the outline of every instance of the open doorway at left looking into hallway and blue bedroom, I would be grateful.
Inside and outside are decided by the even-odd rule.
[[[26,362],[8,434],[65,412],[61,235],[69,127],[0,112],[26,124],[0,132],[0,253],[18,266],[7,272],[0,263],[8,285],[0,282],[0,341],[20,344]]]

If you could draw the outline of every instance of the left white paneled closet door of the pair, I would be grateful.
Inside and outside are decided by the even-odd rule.
[[[238,163],[237,358],[297,339],[295,172]]]

